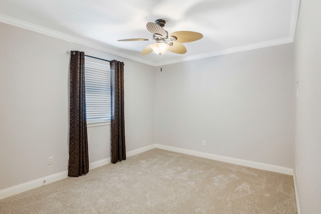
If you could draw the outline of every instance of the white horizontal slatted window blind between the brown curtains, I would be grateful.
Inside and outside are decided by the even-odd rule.
[[[87,123],[110,121],[110,66],[85,60]]]

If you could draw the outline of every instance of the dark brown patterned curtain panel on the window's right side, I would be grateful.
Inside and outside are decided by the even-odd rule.
[[[110,62],[111,162],[126,159],[124,120],[124,63]]]

